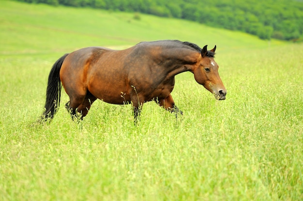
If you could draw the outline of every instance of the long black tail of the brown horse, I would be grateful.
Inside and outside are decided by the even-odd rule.
[[[59,109],[62,88],[60,80],[60,69],[67,55],[68,54],[63,55],[54,63],[48,75],[46,101],[44,106],[45,111],[41,116],[42,120],[46,121],[48,118],[52,119]]]

